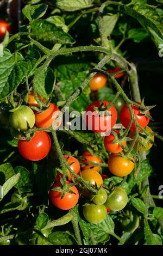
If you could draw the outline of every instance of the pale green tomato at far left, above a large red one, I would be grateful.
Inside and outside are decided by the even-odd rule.
[[[17,131],[27,131],[28,126],[35,124],[35,114],[30,107],[20,106],[10,114],[10,124]]]

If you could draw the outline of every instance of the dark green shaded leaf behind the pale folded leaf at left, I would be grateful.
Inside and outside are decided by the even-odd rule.
[[[15,187],[22,192],[31,192],[33,190],[33,180],[29,170],[22,166],[16,166],[14,172],[15,174],[20,173],[20,180]]]

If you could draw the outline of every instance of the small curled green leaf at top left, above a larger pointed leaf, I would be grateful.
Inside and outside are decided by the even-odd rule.
[[[31,22],[32,20],[40,19],[46,13],[47,8],[47,4],[26,5],[22,9],[22,12]]]

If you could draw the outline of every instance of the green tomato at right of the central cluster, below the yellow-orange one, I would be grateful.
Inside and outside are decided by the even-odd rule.
[[[115,187],[105,202],[112,211],[121,211],[128,202],[127,193],[122,187]]]

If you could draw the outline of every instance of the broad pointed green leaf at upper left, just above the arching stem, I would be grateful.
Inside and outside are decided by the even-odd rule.
[[[52,44],[74,44],[75,42],[71,35],[48,21],[34,21],[31,27],[31,36],[34,36],[37,40],[48,41]]]

